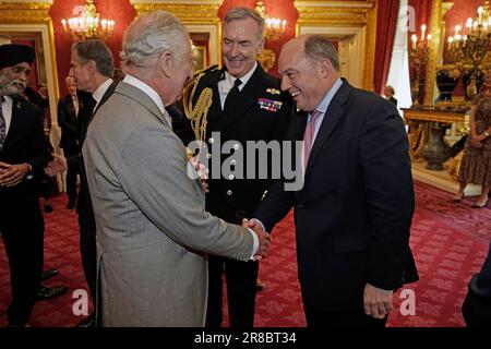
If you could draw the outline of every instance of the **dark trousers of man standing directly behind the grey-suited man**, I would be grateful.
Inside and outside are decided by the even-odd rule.
[[[88,209],[87,209],[88,210]],[[80,226],[80,255],[84,268],[85,280],[94,302],[96,303],[96,280],[97,280],[97,245],[96,245],[96,225],[92,209],[79,212]]]

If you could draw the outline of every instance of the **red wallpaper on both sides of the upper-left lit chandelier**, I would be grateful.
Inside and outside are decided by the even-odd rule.
[[[55,0],[49,10],[55,28],[55,48],[58,67],[58,83],[60,85],[60,96],[67,94],[64,77],[70,71],[70,55],[72,39],[64,34],[61,20],[72,14],[74,7],[85,4],[84,0]],[[96,0],[97,12],[100,16],[111,17],[116,21],[115,34],[106,43],[115,56],[115,64],[119,67],[119,52],[121,50],[122,34],[133,22],[136,11],[130,0]]]

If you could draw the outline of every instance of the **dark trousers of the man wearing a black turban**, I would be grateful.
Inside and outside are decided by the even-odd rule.
[[[9,325],[24,325],[34,306],[43,272],[44,219],[37,195],[0,195],[0,232],[9,258],[12,302]]]

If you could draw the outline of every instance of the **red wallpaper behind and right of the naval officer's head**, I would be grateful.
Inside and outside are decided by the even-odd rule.
[[[218,16],[224,20],[225,13],[233,7],[255,8],[256,0],[224,0],[218,10]],[[277,60],[282,46],[295,37],[295,24],[297,23],[298,12],[291,0],[263,0],[266,7],[266,14],[272,17],[279,17],[287,21],[285,35],[278,40],[266,40],[265,48],[273,50],[276,55],[275,65],[270,70],[273,75],[278,75]]]

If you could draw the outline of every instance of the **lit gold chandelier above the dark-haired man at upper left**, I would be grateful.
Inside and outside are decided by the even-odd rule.
[[[94,4],[94,0],[86,0],[85,5],[73,8],[73,17],[61,20],[63,31],[72,36],[74,41],[100,38],[109,38],[116,22],[113,20],[99,20],[99,13]]]

